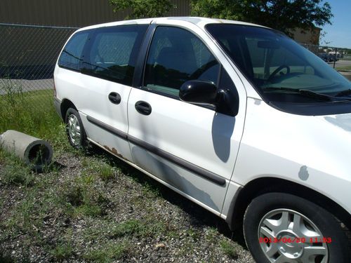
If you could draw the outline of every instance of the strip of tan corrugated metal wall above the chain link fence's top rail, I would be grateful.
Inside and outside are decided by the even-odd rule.
[[[173,0],[178,8],[169,15],[190,15],[190,0]],[[114,13],[109,0],[0,0],[0,22],[25,25],[84,27],[124,20],[126,11]]]

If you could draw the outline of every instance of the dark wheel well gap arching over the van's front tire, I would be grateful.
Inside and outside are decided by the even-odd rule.
[[[350,214],[338,203],[313,189],[296,184],[295,182],[278,178],[264,177],[253,180],[242,188],[230,205],[227,223],[230,229],[241,231],[244,213],[252,199],[268,192],[284,192],[305,198],[329,211],[351,229]]]

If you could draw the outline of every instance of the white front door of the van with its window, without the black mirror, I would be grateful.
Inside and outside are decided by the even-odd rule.
[[[237,92],[216,57],[192,32],[157,27],[143,87],[133,88],[129,96],[128,140],[133,162],[219,215],[239,149],[246,102],[240,102],[237,116],[228,116],[178,97],[180,86],[190,79],[218,86],[229,82],[226,88]]]

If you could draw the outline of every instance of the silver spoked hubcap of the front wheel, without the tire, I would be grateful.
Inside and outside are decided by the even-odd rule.
[[[258,225],[260,247],[274,263],[326,263],[322,232],[304,215],[289,209],[267,213]]]

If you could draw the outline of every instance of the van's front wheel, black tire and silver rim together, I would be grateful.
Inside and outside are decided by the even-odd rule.
[[[258,263],[351,262],[348,238],[336,217],[292,194],[253,198],[246,208],[243,229],[246,245]]]

